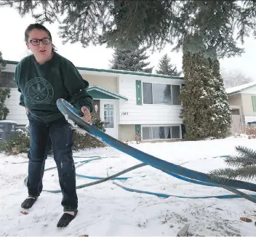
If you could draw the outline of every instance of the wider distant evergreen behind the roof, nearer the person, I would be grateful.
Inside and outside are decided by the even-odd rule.
[[[146,47],[134,50],[115,49],[111,69],[152,73],[153,68],[145,68],[150,64],[145,63],[149,57],[146,55],[146,50]]]

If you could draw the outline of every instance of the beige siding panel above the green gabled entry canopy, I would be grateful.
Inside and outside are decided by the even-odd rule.
[[[83,79],[89,82],[90,86],[99,86],[118,93],[117,77],[116,76],[97,76],[89,74],[81,74]]]

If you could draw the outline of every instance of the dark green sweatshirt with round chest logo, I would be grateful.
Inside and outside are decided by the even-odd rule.
[[[23,58],[15,71],[15,82],[20,95],[20,105],[31,115],[49,122],[63,117],[56,101],[63,98],[79,111],[87,106],[92,112],[92,96],[88,81],[81,77],[76,67],[65,57],[54,52],[53,57],[40,65],[33,55]]]

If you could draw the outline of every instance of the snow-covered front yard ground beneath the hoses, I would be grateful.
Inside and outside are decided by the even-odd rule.
[[[236,153],[236,145],[256,148],[256,140],[229,137],[225,140],[129,145],[169,162],[208,172],[225,166],[223,158],[212,156],[232,155]],[[114,174],[141,163],[110,147],[83,150],[74,155],[108,157],[76,169],[78,174],[91,176],[106,177],[107,170]],[[79,189],[79,214],[67,228],[57,229],[57,220],[63,210],[61,193],[43,192],[27,215],[20,214],[20,203],[27,196],[23,180],[28,164],[10,163],[23,161],[27,161],[25,154],[17,157],[0,154],[0,236],[177,236],[186,224],[190,225],[191,236],[255,236],[256,233],[256,206],[246,199],[159,198],[128,192],[112,181]],[[47,167],[51,166],[55,166],[55,162],[48,158]],[[142,175],[146,176],[140,177]],[[179,196],[232,194],[222,188],[177,180],[151,166],[135,169],[123,176],[134,178],[116,182],[151,192]],[[92,181],[95,180],[77,177],[77,185]],[[56,169],[45,172],[44,188],[59,189]],[[242,222],[240,217],[249,217],[252,222]]]

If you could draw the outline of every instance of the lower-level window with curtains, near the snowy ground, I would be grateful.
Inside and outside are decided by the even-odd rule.
[[[180,125],[177,126],[142,126],[142,140],[179,139]]]

